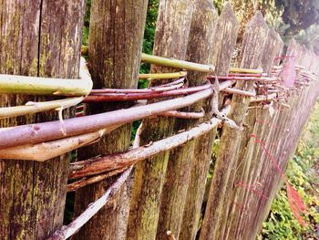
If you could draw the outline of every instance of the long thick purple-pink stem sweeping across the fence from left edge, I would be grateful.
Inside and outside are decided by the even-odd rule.
[[[227,86],[227,84],[225,85]],[[201,99],[207,99],[213,91],[212,88],[205,89],[187,97],[170,99],[146,106],[63,120],[63,125],[60,120],[56,120],[0,129],[0,149],[72,137],[122,125],[134,120],[141,120],[168,110],[182,109]]]

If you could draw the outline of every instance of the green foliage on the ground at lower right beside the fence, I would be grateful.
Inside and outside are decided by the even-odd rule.
[[[289,162],[286,177],[293,187],[302,195],[306,204],[307,214],[304,220],[308,224],[303,228],[294,218],[289,207],[285,187],[277,193],[273,201],[271,213],[263,223],[260,239],[308,239],[315,238],[315,225],[319,224],[318,172],[314,166],[319,159],[319,103],[315,106],[314,114],[309,120],[304,136],[299,143],[293,160]]]

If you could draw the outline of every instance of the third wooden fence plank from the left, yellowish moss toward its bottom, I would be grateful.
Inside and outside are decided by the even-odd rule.
[[[154,55],[184,60],[190,33],[193,6],[190,0],[161,0],[155,34]],[[176,69],[152,66],[151,71]],[[152,86],[168,80],[153,80]],[[150,101],[151,102],[151,101]],[[140,144],[159,141],[173,133],[174,119],[156,117],[143,121]],[[160,194],[170,152],[158,154],[136,166],[127,239],[155,239],[160,214]]]

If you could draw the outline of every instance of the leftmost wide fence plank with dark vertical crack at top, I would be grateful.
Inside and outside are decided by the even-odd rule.
[[[2,1],[0,72],[78,78],[85,5],[84,0]],[[49,100],[2,95],[0,105],[36,99]],[[0,126],[46,120],[57,120],[57,114],[0,120]],[[1,239],[45,239],[62,224],[68,165],[67,155],[45,163],[0,161]]]

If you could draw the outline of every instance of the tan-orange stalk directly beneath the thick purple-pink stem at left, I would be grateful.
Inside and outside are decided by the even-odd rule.
[[[107,129],[57,141],[47,141],[3,149],[0,150],[0,159],[46,162],[49,159],[53,159],[69,151],[93,144],[103,135],[112,130],[116,130],[118,127],[120,126],[112,126]]]

